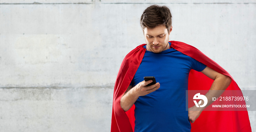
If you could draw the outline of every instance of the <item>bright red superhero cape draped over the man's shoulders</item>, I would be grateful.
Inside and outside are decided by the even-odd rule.
[[[174,48],[181,53],[188,55],[210,67],[211,69],[231,77],[231,75],[204,55],[197,48],[188,44],[170,41],[170,48]],[[118,71],[113,97],[111,132],[133,132],[134,131],[134,109],[133,105],[127,112],[120,106],[120,99],[130,85],[146,51],[142,44],[128,53],[121,63]],[[231,77],[232,78],[232,77]],[[213,80],[201,72],[191,70],[189,73],[188,90],[209,90]],[[226,90],[240,90],[234,79]],[[191,123],[191,132],[251,132],[251,124],[247,111],[203,111]]]

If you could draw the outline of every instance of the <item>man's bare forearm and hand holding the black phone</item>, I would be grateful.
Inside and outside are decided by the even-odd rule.
[[[128,111],[132,107],[132,105],[136,102],[136,100],[139,98],[139,96],[147,95],[151,92],[154,92],[158,88],[160,88],[159,82],[151,86],[146,86],[151,82],[152,80],[149,80],[146,82],[142,81],[136,86],[134,86],[133,88],[132,86],[128,86],[126,92],[124,93],[120,101],[121,108],[125,112]]]

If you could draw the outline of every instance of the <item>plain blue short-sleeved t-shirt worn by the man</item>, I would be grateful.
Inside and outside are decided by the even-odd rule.
[[[205,67],[173,48],[161,53],[146,51],[131,85],[142,82],[145,76],[154,76],[160,88],[135,102],[135,132],[190,132],[186,111],[188,75],[191,69],[202,71]]]

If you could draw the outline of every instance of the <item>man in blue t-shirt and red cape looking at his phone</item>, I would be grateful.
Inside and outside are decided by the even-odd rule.
[[[225,90],[233,80],[225,70],[209,61],[194,47],[182,42],[169,42],[172,15],[167,7],[148,7],[141,16],[141,26],[146,44],[131,51],[118,72],[114,90],[112,131],[189,132],[191,123],[203,111],[203,108],[196,106],[186,111],[185,92],[188,90],[189,73],[196,70],[214,80],[210,90]],[[158,82],[146,86],[152,80],[143,81],[145,76],[154,76]],[[213,92],[206,94],[209,100],[218,96],[218,93]],[[210,104],[211,101],[206,106]],[[134,127],[133,119],[128,119],[125,114],[133,105]],[[127,115],[131,114],[127,112]],[[246,113],[242,115],[246,116]],[[248,120],[245,121],[243,128],[237,131],[250,130]]]

